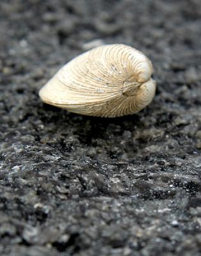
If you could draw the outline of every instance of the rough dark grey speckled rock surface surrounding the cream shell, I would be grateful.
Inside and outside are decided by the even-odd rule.
[[[0,255],[200,256],[200,1],[0,7]],[[148,108],[104,119],[41,102],[64,63],[112,43],[153,61]]]

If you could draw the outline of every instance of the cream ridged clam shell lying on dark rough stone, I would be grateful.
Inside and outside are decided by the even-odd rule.
[[[123,44],[103,45],[64,65],[39,95],[45,103],[82,115],[130,115],[153,100],[152,72],[142,52]]]

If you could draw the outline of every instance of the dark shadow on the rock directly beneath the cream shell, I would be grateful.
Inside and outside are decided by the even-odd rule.
[[[114,136],[121,136],[123,132],[134,131],[140,122],[145,110],[135,115],[115,118],[101,118],[96,116],[84,116],[70,113],[48,104],[38,107],[38,113],[43,124],[52,125],[52,131],[60,131],[63,134],[71,131],[78,136],[80,143],[91,145],[94,140],[109,140]]]

